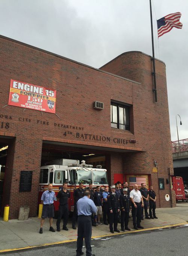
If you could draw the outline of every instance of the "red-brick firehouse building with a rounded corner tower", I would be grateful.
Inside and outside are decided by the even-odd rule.
[[[175,205],[162,61],[156,60],[155,102],[151,57],[142,52],[123,53],[95,69],[3,36],[0,48],[0,146],[8,146],[0,152],[2,213],[9,204],[9,218],[17,218],[20,206],[29,205],[36,216],[40,166],[90,153],[95,155],[86,162],[102,163],[109,184],[145,176],[158,207]],[[56,90],[56,112],[8,105],[11,79]],[[103,103],[102,110],[93,107],[95,101]],[[30,192],[19,191],[21,171],[32,171]]]

